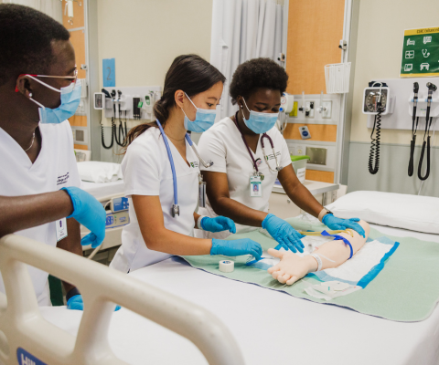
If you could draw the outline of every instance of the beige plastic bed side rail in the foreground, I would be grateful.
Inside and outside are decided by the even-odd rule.
[[[77,337],[41,316],[25,264],[80,289],[84,312]],[[16,351],[22,348],[48,364],[125,364],[108,341],[114,303],[189,339],[209,364],[244,363],[229,329],[208,310],[79,255],[6,235],[0,240],[0,270],[6,292],[0,293],[2,363],[16,364]]]

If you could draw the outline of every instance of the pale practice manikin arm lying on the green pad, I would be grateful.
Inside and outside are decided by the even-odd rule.
[[[359,251],[359,249],[366,243],[369,236],[369,224],[365,221],[359,221],[366,233],[366,237],[362,237],[356,231],[350,230],[349,232],[353,236],[347,233],[341,233],[341,235],[348,239],[350,245],[352,245],[353,255]],[[268,272],[282,284],[292,285],[297,280],[301,279],[308,273],[315,272],[318,267],[318,263],[315,257],[312,255],[305,255],[301,257],[295,255],[291,251],[280,252],[273,248],[268,250],[268,254],[274,257],[279,257],[281,261],[276,266],[270,267]],[[327,243],[320,245],[313,254],[320,257],[322,261],[322,270],[326,268],[333,268],[340,266],[348,260],[350,255],[350,248],[342,240],[328,241]]]

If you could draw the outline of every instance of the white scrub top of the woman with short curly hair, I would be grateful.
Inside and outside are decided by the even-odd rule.
[[[272,138],[274,151],[276,152],[277,161],[281,168],[291,164],[290,152],[282,134],[275,127],[267,131]],[[263,139],[265,154],[268,163],[275,170],[276,162],[274,160],[272,146],[267,138]],[[273,190],[273,185],[277,179],[277,172],[272,172],[266,161],[264,161],[261,145],[261,137],[258,141],[256,153],[252,154],[254,160],[261,159],[258,166],[260,172],[265,178],[262,180],[262,197],[250,196],[250,177],[253,174],[253,163],[249,151],[242,141],[240,130],[236,127],[233,120],[225,118],[215,123],[213,127],[205,131],[198,141],[198,151],[204,160],[213,162],[213,166],[201,170],[209,172],[227,173],[227,182],[229,183],[230,198],[242,203],[252,209],[268,212],[268,200]],[[209,199],[206,199],[206,208],[199,208],[198,214],[217,216],[210,206]],[[250,232],[257,229],[248,225],[236,224],[237,233]],[[199,238],[226,238],[230,235],[229,231],[218,233],[204,232],[197,230],[196,235]]]

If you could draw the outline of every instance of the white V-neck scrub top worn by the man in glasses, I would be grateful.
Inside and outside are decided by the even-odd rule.
[[[32,163],[27,153],[0,128],[0,194],[5,196],[56,192],[63,187],[80,187],[73,138],[68,120],[60,124],[39,124],[41,151]],[[36,241],[57,245],[55,222],[16,232]],[[69,233],[68,233],[69,234]],[[40,306],[50,306],[48,273],[27,266]],[[0,291],[5,292],[0,276]]]

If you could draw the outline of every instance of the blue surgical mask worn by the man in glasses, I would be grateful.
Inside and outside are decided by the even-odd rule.
[[[30,75],[28,76],[29,78],[35,79],[37,82],[44,85],[48,89],[52,89],[54,91],[58,91],[61,93],[61,104],[59,105],[58,108],[55,109],[46,108],[41,103],[37,102],[37,100],[30,98],[33,102],[35,102],[40,107],[38,109],[38,112],[39,112],[39,121],[41,123],[59,124],[64,120],[68,120],[70,117],[73,116],[73,114],[76,113],[76,110],[80,105],[80,89],[81,89],[80,80],[76,80],[76,85],[75,83],[71,83],[70,86],[66,88],[61,88],[59,90],[56,88],[52,88],[50,85],[46,84],[45,82],[37,78],[34,78]]]

